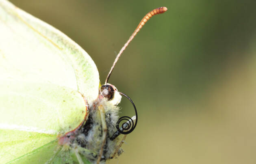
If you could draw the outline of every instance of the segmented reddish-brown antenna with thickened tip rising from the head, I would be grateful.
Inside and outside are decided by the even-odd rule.
[[[124,50],[126,49],[126,47],[129,45],[129,43],[132,41],[132,39],[137,35],[137,33],[139,32],[139,30],[144,26],[144,24],[146,22],[148,22],[148,20],[153,16],[153,15],[157,15],[157,14],[161,14],[164,13],[165,11],[167,11],[166,7],[158,7],[152,11],[150,11],[149,13],[147,13],[142,19],[141,22],[139,22],[139,25],[137,26],[137,28],[135,29],[135,31],[132,33],[132,35],[130,36],[130,38],[128,39],[128,41],[124,44],[124,46],[121,48],[121,50],[119,51],[119,53],[117,54],[117,57],[115,58],[115,61],[108,73],[108,76],[106,78],[105,81],[105,85],[106,83],[108,83],[108,79],[115,67],[115,64],[117,63],[118,59],[120,58],[121,54],[124,52]]]

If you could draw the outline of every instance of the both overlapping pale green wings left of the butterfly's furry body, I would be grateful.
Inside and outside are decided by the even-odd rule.
[[[98,86],[98,70],[79,45],[0,0],[0,163],[56,158],[56,136],[85,117],[81,93],[91,103]]]

